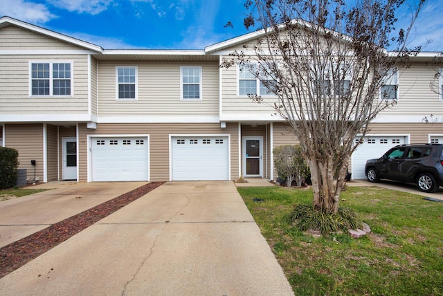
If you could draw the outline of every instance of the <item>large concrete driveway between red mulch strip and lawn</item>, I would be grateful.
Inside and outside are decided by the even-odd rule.
[[[165,183],[0,279],[0,294],[293,292],[235,185],[219,181]]]

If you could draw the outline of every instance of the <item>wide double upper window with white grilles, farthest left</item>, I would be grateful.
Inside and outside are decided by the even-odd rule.
[[[31,96],[71,96],[72,62],[30,62]]]

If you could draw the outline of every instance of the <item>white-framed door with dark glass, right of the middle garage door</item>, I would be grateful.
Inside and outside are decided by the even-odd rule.
[[[263,176],[263,137],[243,137],[243,176]]]

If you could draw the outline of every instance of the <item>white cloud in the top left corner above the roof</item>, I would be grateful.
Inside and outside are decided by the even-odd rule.
[[[44,4],[25,0],[0,0],[0,16],[3,15],[33,24],[44,24],[57,17]]]

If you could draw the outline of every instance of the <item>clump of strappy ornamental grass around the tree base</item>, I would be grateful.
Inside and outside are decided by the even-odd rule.
[[[360,228],[362,222],[353,210],[341,207],[336,213],[314,210],[312,205],[296,205],[288,216],[289,223],[300,231],[316,230],[322,234]]]

